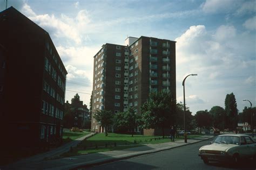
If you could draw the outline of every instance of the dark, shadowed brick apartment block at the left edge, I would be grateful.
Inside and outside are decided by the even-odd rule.
[[[62,141],[68,73],[48,32],[13,7],[0,12],[0,66],[3,146]]]

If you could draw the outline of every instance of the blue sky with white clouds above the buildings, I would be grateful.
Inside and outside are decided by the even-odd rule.
[[[6,0],[0,0],[0,11]],[[77,93],[89,106],[93,56],[127,36],[176,42],[177,102],[196,114],[233,93],[238,110],[256,104],[256,1],[8,0],[50,34],[66,70],[66,101]]]

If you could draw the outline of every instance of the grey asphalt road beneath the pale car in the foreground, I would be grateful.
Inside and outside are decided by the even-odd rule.
[[[111,162],[93,166],[86,169],[253,169],[256,170],[256,162],[248,160],[238,166],[231,163],[211,162],[204,164],[198,157],[201,146],[207,145],[210,140],[201,141],[196,144],[173,148],[171,150],[146,154],[126,160]]]

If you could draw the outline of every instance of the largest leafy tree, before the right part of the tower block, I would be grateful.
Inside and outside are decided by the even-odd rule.
[[[142,121],[145,129],[170,128],[176,110],[176,101],[169,92],[151,93],[142,105]]]

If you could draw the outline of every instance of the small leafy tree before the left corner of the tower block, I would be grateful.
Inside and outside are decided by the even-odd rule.
[[[113,112],[111,110],[96,110],[93,117],[102,127],[105,128],[105,136],[107,136],[107,126],[113,124]]]

